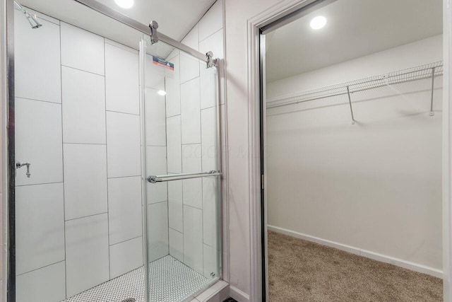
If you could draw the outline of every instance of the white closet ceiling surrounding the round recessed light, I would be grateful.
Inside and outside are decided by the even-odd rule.
[[[328,23],[312,30],[314,16]],[[267,35],[268,82],[442,33],[442,0],[338,0]]]

